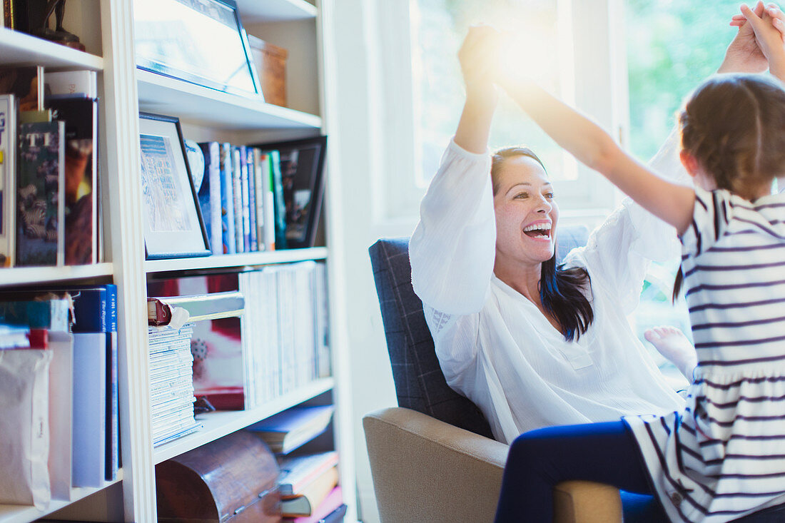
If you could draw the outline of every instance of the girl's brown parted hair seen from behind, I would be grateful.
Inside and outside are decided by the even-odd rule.
[[[785,90],[761,75],[717,75],[703,82],[678,116],[681,148],[717,188],[752,200],[785,167]],[[681,267],[674,301],[681,290]]]

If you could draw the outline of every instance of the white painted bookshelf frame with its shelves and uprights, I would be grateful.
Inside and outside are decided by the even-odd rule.
[[[58,46],[0,28],[0,65],[44,65],[51,71],[89,69],[99,72],[100,92],[100,198],[103,203],[105,262],[81,267],[0,269],[0,287],[41,283],[113,282],[118,285],[120,433],[123,468],[117,481],[104,488],[75,488],[68,501],[53,500],[45,511],[34,507],[0,506],[0,523],[35,521],[66,507],[55,518],[94,518],[96,496],[112,514],[112,521],[155,521],[155,464],[214,441],[279,411],[314,398],[329,397],[336,405],[333,439],[341,456],[341,485],[349,513],[356,521],[354,473],[351,455],[352,427],[347,394],[341,393],[340,376],[318,379],[248,411],[219,411],[199,416],[203,428],[197,433],[152,447],[148,395],[147,318],[142,304],[147,297],[148,276],[160,272],[185,275],[204,270],[258,267],[261,265],[326,261],[329,243],[323,247],[292,251],[234,254],[206,258],[146,261],[141,230],[143,200],[139,183],[139,111],[177,116],[185,137],[197,141],[235,143],[312,136],[326,132],[323,120],[323,17],[331,2],[305,0],[239,0],[243,24],[250,34],[276,42],[278,33],[289,34],[281,45],[290,48],[289,83],[293,108],[282,108],[177,79],[137,71],[133,54],[133,0],[69,2],[66,27],[82,38],[88,53]],[[276,29],[277,27],[277,29]],[[301,79],[316,79],[304,81]],[[294,86],[293,84],[298,84]],[[302,84],[302,85],[299,85]],[[294,134],[293,134],[294,133]],[[330,174],[327,173],[329,179]],[[325,203],[327,205],[327,202]],[[327,211],[323,211],[327,213]],[[328,271],[329,273],[330,271]],[[330,294],[338,292],[330,288]],[[339,301],[338,301],[339,302]],[[333,305],[334,308],[334,305]],[[330,314],[330,331],[335,314]],[[334,339],[334,338],[333,338]],[[341,368],[345,354],[332,346],[334,369]],[[340,375],[340,371],[337,372]],[[342,400],[345,398],[345,400]],[[321,399],[319,399],[321,400]],[[112,488],[107,488],[113,485]],[[91,496],[91,502],[80,500]],[[108,518],[105,517],[105,518]],[[98,521],[98,520],[95,520]],[[101,519],[100,521],[104,521]]]

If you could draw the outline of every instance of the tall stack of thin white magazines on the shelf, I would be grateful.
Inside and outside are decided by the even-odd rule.
[[[194,419],[193,324],[149,327],[152,443],[172,441],[199,429]]]

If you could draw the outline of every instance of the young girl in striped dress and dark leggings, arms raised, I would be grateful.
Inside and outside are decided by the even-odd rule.
[[[746,6],[773,75],[783,38]],[[674,225],[699,364],[685,408],[664,416],[551,427],[510,448],[496,521],[551,521],[551,488],[587,480],[653,492],[672,521],[729,521],[785,502],[785,90],[720,75],[681,113],[674,185],[590,121],[528,82],[499,83],[562,147]]]

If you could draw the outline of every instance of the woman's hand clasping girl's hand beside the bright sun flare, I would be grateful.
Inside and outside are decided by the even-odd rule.
[[[473,25],[458,50],[466,96],[496,101],[495,80],[499,67],[501,33],[490,25]]]

